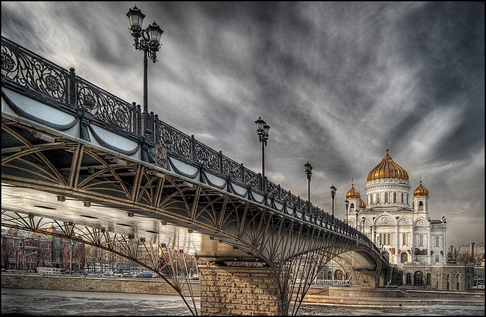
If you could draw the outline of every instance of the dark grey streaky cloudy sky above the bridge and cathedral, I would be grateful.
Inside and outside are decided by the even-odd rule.
[[[133,2],[1,3],[1,34],[142,104]],[[389,153],[430,191],[448,245],[484,242],[485,4],[140,2],[165,31],[149,61],[149,111],[344,216],[344,194]]]

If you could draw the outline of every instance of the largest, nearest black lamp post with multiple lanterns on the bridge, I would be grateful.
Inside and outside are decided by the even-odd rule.
[[[144,52],[144,105],[142,111],[142,133],[145,133],[147,125],[147,118],[149,117],[149,96],[147,94],[147,57],[152,60],[152,62],[157,61],[157,52],[160,49],[160,37],[164,31],[156,24],[150,24],[146,29],[142,28],[142,22],[144,21],[145,15],[142,11],[133,6],[126,12],[128,17],[128,22],[130,22],[130,33],[135,41],[133,46],[135,49]]]

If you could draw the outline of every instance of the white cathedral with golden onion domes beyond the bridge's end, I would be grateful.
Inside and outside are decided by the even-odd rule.
[[[419,181],[410,196],[408,173],[388,153],[367,175],[365,196],[351,184],[346,219],[387,252],[389,263],[446,264],[446,219],[432,219],[429,191]],[[366,203],[364,200],[366,200]]]

